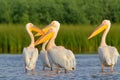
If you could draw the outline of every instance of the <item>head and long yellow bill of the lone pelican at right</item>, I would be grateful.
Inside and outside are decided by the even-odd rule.
[[[93,33],[88,37],[88,39],[93,38],[94,36],[96,36],[97,34],[99,34],[100,32],[104,31],[104,30],[109,30],[110,29],[110,20],[103,20],[102,24],[99,25],[94,31]]]

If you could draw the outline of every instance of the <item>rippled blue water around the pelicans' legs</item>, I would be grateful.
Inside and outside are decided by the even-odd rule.
[[[101,73],[98,55],[76,55],[77,69],[65,74],[63,70],[59,74],[55,71],[42,71],[40,60],[37,61],[35,75],[24,73],[24,61],[22,55],[0,55],[0,80],[120,80],[120,59],[115,66],[115,72],[110,73],[105,68]]]

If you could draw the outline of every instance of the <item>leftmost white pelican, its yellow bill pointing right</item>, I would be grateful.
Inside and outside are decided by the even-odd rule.
[[[28,47],[25,47],[23,49],[23,55],[24,55],[24,59],[25,59],[25,72],[27,72],[27,70],[32,70],[32,72],[34,73],[36,61],[38,59],[38,49],[35,48],[34,36],[31,31],[40,32],[40,30],[38,30],[37,27],[33,26],[32,23],[28,23],[26,25],[26,30],[31,38],[31,44]],[[42,31],[41,31],[41,33],[42,33]]]

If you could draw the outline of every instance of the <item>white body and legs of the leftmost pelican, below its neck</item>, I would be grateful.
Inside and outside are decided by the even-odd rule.
[[[34,47],[26,47],[23,49],[25,58],[25,71],[32,70],[33,73],[36,67],[36,61],[38,59],[38,49]]]

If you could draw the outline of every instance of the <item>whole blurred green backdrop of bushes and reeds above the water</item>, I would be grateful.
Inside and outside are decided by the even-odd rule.
[[[88,40],[91,32],[109,19],[112,27],[107,44],[120,51],[120,0],[0,0],[0,53],[21,54],[30,44],[25,25],[43,28],[58,20],[56,44],[76,54],[96,53],[101,35]],[[39,50],[41,45],[36,46]]]

